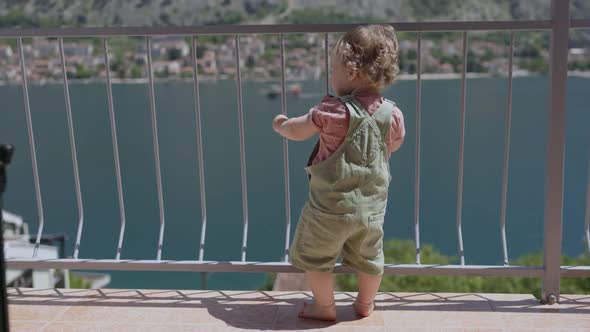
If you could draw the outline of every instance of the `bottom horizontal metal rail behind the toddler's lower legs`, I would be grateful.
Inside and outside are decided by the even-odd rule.
[[[115,259],[34,259],[8,258],[10,269],[76,269],[125,271],[177,271],[177,272],[303,272],[286,262],[217,262],[172,260],[115,260]],[[386,274],[396,275],[452,275],[452,276],[511,276],[541,277],[540,266],[502,265],[428,265],[385,264]],[[579,273],[579,269],[568,270]],[[573,271],[573,272],[572,272]],[[590,273],[590,270],[582,270]],[[353,273],[350,267],[337,264],[336,273]]]

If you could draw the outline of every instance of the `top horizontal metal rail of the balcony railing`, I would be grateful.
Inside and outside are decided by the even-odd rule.
[[[572,20],[572,27],[588,25],[588,20]],[[396,22],[397,31],[502,31],[550,30],[550,20],[539,21],[465,21],[465,22]],[[260,24],[260,25],[199,25],[170,27],[66,27],[66,28],[8,28],[0,29],[0,37],[109,37],[162,35],[234,35],[278,33],[345,32],[362,24]]]

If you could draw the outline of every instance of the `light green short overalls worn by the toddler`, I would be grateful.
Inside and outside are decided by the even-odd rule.
[[[386,137],[395,104],[385,100],[372,116],[353,96],[342,96],[350,114],[346,138],[328,159],[306,167],[309,198],[289,260],[305,271],[342,263],[368,274],[383,273],[383,220],[391,175]],[[312,157],[313,159],[313,157]]]

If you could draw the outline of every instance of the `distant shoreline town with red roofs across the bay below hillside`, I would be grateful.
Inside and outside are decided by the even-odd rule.
[[[467,72],[490,76],[508,71],[509,34],[473,33],[468,42]],[[524,34],[524,33],[523,33]],[[544,74],[548,71],[548,48],[542,33],[526,33],[532,38],[515,42],[515,75]],[[441,38],[442,37],[442,38]],[[235,39],[230,36],[198,36],[196,56],[199,79],[226,79],[236,75]],[[330,44],[337,35],[330,35]],[[148,50],[145,38],[114,37],[108,39],[111,76],[117,80],[147,78]],[[278,35],[242,35],[240,73],[245,80],[273,80],[281,77],[280,39]],[[285,74],[289,81],[319,79],[325,75],[323,34],[285,35]],[[104,79],[106,77],[102,39],[64,39],[66,71],[69,79]],[[185,36],[152,37],[152,71],[156,78],[192,78],[192,38]],[[23,53],[27,79],[51,82],[62,79],[58,40],[24,39]],[[417,67],[416,34],[399,34],[400,74],[415,75]],[[422,40],[422,73],[451,75],[462,70],[462,39],[458,33],[433,34]],[[590,49],[571,48],[569,69],[590,71]],[[20,57],[16,41],[0,41],[0,82],[21,81]],[[428,76],[426,76],[428,77]]]

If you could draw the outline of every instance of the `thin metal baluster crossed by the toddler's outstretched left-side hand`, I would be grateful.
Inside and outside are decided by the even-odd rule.
[[[287,88],[285,84],[285,35],[281,33],[281,110],[287,116]],[[283,165],[285,178],[285,262],[289,261],[289,240],[291,237],[291,187],[289,181],[289,141],[283,138]]]

